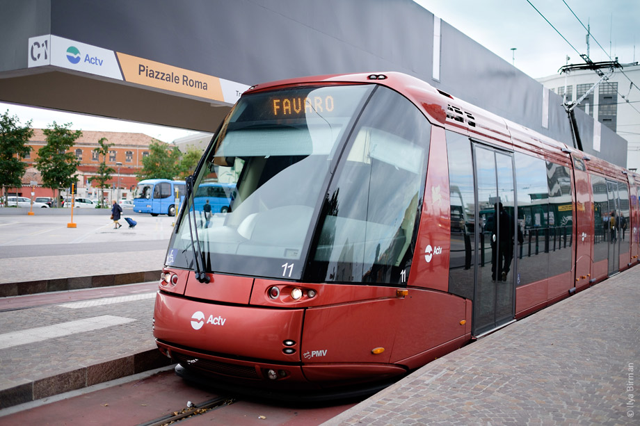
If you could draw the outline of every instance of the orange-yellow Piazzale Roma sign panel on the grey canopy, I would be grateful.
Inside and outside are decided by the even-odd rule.
[[[116,55],[125,81],[214,101],[225,100],[218,77],[120,52]]]

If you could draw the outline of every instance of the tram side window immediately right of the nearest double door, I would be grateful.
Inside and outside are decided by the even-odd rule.
[[[518,230],[518,286],[548,277],[549,192],[544,160],[515,153]]]

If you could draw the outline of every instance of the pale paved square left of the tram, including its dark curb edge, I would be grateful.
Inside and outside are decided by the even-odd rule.
[[[69,228],[68,209],[27,211],[0,208],[0,297],[156,279],[175,220],[125,209],[138,225],[113,229],[109,211],[77,209]]]

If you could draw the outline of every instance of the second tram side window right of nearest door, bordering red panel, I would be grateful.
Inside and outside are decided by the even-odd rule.
[[[547,161],[549,188],[549,276],[571,270],[573,246],[573,199],[569,167]]]

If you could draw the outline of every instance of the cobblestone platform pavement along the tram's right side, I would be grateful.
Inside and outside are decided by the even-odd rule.
[[[638,425],[639,269],[437,359],[324,425]]]

